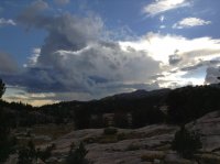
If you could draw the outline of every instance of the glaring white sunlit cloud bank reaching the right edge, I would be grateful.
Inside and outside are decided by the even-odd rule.
[[[211,37],[187,39],[182,35],[147,33],[136,41],[120,42],[120,45],[124,50],[132,47],[135,51],[146,52],[164,65],[169,64],[169,56],[174,55],[176,51],[183,58],[182,64],[188,63],[188,59],[202,59],[220,54],[220,40]]]

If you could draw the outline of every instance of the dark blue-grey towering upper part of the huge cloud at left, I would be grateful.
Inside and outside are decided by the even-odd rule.
[[[58,50],[79,51],[89,43],[97,42],[103,26],[100,18],[77,18],[70,14],[61,15],[48,22],[43,26],[50,34],[41,48],[41,54],[50,55],[41,55],[42,63],[55,59],[53,53]],[[45,25],[44,22],[42,23]]]

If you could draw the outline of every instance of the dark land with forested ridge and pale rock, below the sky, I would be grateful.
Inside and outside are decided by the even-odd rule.
[[[136,90],[42,107],[0,101],[0,157],[6,160],[9,151],[13,154],[9,163],[15,164],[19,154],[25,157],[32,151],[41,163],[63,164],[70,147],[73,153],[81,142],[88,150],[86,158],[95,164],[190,164],[195,160],[218,164],[219,98],[219,85],[211,85]],[[202,143],[189,160],[172,146],[183,125],[198,133]]]

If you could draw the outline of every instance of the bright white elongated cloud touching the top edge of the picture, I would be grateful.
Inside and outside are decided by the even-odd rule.
[[[154,17],[156,14],[187,6],[189,6],[187,0],[155,0],[155,2],[144,7],[143,12],[147,15]]]

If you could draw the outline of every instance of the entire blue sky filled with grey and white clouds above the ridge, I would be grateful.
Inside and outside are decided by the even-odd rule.
[[[0,78],[33,106],[219,83],[219,0],[1,0]]]

